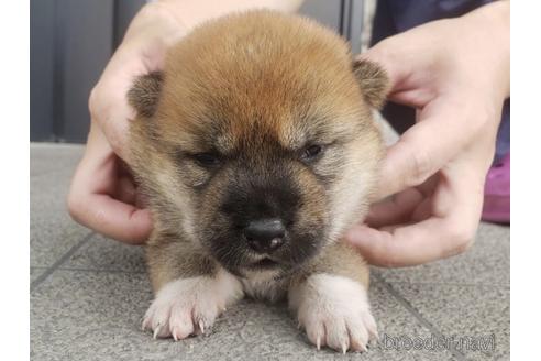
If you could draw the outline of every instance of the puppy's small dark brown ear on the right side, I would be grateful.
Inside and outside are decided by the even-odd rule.
[[[357,59],[353,61],[353,74],[357,78],[366,102],[371,107],[380,109],[390,88],[387,73],[376,63]]]

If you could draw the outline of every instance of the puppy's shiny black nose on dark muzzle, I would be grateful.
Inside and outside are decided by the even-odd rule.
[[[272,253],[284,244],[286,228],[276,218],[251,221],[244,228],[244,237],[251,249],[257,253]]]

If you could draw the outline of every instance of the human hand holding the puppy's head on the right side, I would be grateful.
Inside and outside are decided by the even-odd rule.
[[[509,97],[509,3],[389,37],[363,54],[387,69],[391,101],[417,122],[390,146],[366,225],[346,239],[368,262],[406,266],[471,244],[504,100]]]

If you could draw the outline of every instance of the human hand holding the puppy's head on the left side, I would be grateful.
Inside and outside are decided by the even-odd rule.
[[[136,203],[125,165],[129,121],[135,117],[126,92],[137,76],[163,66],[167,46],[184,33],[184,25],[164,4],[145,6],[90,95],[90,133],[71,182],[68,209],[79,223],[123,242],[142,243],[152,231],[151,214]]]

